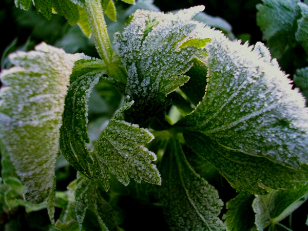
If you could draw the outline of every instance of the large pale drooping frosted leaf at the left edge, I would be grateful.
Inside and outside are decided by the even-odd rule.
[[[25,199],[40,203],[53,188],[64,99],[80,55],[42,43],[9,58],[15,67],[0,74],[0,138],[25,185]]]

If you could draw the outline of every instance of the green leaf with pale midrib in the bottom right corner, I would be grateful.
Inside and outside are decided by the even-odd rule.
[[[256,213],[256,225],[258,230],[263,230],[269,225],[275,225],[308,198],[308,185],[298,184],[297,188],[290,190],[272,191],[268,195],[256,196],[253,208]]]

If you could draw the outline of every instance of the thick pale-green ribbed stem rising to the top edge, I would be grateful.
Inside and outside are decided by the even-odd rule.
[[[112,62],[112,48],[104,19],[101,0],[85,0],[85,9],[89,18],[95,48],[107,63]]]

